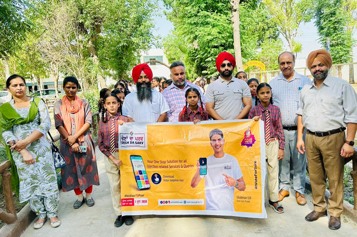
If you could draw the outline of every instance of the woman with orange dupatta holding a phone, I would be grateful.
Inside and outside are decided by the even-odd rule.
[[[99,185],[95,148],[89,132],[92,113],[89,102],[76,96],[78,87],[78,80],[67,76],[63,80],[66,95],[54,104],[55,126],[61,135],[60,152],[67,162],[61,168],[62,191],[74,190],[78,197],[73,205],[76,209],[84,202],[89,207],[94,205],[92,188]]]

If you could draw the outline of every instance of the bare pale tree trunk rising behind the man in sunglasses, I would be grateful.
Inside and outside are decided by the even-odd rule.
[[[240,35],[240,21],[239,21],[239,1],[240,0],[230,0],[232,6],[232,17],[233,22],[233,41],[234,41],[234,53],[236,56],[236,66],[238,71],[243,71],[242,62],[242,52],[241,52],[241,35]]]

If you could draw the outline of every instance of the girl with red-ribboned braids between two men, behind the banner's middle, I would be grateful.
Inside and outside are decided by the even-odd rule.
[[[196,124],[202,120],[208,120],[208,114],[206,109],[203,107],[200,92],[196,88],[190,87],[187,89],[185,97],[186,105],[183,107],[180,115],[178,116],[178,121],[193,122],[193,124]],[[198,100],[200,100],[200,107],[198,107]]]

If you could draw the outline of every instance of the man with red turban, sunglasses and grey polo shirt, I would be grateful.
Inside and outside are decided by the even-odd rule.
[[[236,60],[228,52],[221,52],[216,59],[220,72],[217,80],[206,90],[206,110],[215,120],[243,119],[252,107],[252,96],[247,82],[232,76]]]

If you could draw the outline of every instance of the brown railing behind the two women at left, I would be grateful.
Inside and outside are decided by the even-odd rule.
[[[99,113],[96,112],[92,114],[92,120],[94,119],[94,117],[96,117],[97,121],[93,122],[92,127],[94,131],[96,131],[97,123],[100,119]],[[58,141],[60,139],[60,135],[57,134],[56,136],[53,137],[53,139],[55,141]],[[1,175],[2,189],[4,191],[5,207],[6,207],[6,212],[0,208],[0,220],[5,222],[6,224],[14,223],[17,219],[14,198],[12,196],[12,189],[10,185],[10,178],[11,178],[11,173],[9,172],[10,166],[11,166],[10,161],[5,161],[0,165],[0,175]]]

